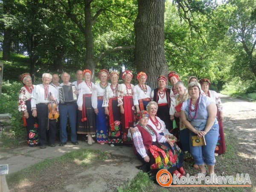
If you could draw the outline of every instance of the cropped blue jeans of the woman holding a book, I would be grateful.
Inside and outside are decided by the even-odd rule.
[[[214,150],[215,146],[218,141],[218,134],[219,134],[219,126],[218,123],[212,125],[212,128],[209,132],[204,136],[206,145],[204,146],[192,146],[191,137],[195,136],[193,132],[189,134],[189,145],[190,145],[190,152],[195,160],[195,164],[203,165],[204,163],[213,166],[215,165],[215,157],[214,157]]]

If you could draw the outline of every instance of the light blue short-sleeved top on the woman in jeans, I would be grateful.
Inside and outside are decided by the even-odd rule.
[[[201,99],[198,104],[198,114],[194,120],[192,120],[192,117],[195,116],[195,111],[191,112],[191,116],[189,115],[189,101],[190,99],[186,100],[187,106],[185,109],[185,114],[187,120],[191,123],[193,127],[195,127],[196,130],[201,131],[204,130],[207,119],[208,119],[208,111],[206,106],[206,100],[207,96],[201,96]],[[215,118],[214,123],[218,123],[217,119]]]

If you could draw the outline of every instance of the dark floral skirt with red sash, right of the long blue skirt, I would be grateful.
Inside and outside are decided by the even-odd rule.
[[[117,107],[117,97],[110,98],[108,100],[108,143],[111,145],[122,145],[122,124],[121,124],[121,113],[120,107]]]

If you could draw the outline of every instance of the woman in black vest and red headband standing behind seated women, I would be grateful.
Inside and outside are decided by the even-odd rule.
[[[166,124],[166,128],[170,133],[173,131],[172,121],[169,114],[171,105],[171,90],[166,88],[167,79],[165,76],[160,76],[157,78],[158,88],[152,90],[151,100],[157,102],[158,110],[157,116],[163,120]],[[173,94],[172,94],[173,96]],[[175,135],[176,137],[176,135]]]

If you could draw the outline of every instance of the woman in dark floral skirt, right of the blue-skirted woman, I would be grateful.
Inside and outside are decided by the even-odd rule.
[[[122,145],[122,125],[120,107],[118,107],[117,90],[119,84],[117,83],[119,74],[115,71],[110,73],[111,85],[106,88],[103,98],[102,107],[105,108],[105,114],[108,115],[108,144],[111,147],[115,145]]]

